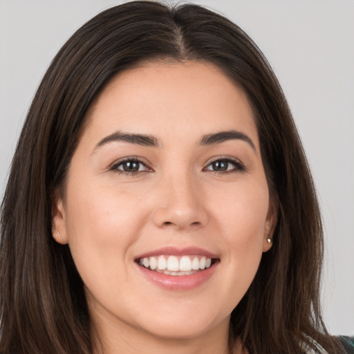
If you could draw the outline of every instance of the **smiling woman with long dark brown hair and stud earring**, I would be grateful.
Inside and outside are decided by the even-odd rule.
[[[341,353],[319,310],[322,242],[252,40],[194,5],[111,8],[59,50],[19,139],[0,351]]]

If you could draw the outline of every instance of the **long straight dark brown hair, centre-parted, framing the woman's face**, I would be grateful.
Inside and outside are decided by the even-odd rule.
[[[68,245],[51,232],[88,107],[117,73],[142,60],[202,60],[237,83],[254,111],[265,174],[278,206],[272,249],[234,309],[250,353],[329,353],[319,307],[322,223],[304,150],[267,60],[238,26],[201,6],[133,1],[88,21],[59,50],[30,106],[1,205],[0,351],[92,354],[92,325]]]

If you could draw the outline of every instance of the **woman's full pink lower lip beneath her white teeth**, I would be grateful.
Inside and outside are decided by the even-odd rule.
[[[138,263],[136,263],[140,272],[144,274],[144,276],[156,283],[156,285],[161,288],[165,288],[167,290],[191,290],[201,286],[202,283],[205,283],[218,265],[218,262],[212,264],[209,268],[201,270],[200,272],[196,272],[190,275],[169,275],[158,272],[153,272],[153,270],[148,270],[147,268],[142,267]]]

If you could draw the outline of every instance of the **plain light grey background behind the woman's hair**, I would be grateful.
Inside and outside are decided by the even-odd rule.
[[[331,333],[353,335],[354,1],[194,2],[218,10],[248,32],[279,78],[324,216],[324,319]],[[85,21],[119,3],[0,0],[1,196],[28,106],[51,59]]]

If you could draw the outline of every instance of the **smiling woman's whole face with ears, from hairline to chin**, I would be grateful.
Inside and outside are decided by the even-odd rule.
[[[100,328],[186,339],[225,336],[272,221],[243,91],[212,64],[150,63],[88,112],[53,234]]]

